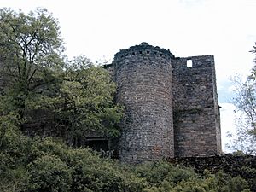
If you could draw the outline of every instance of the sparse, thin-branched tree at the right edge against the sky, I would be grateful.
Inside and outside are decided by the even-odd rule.
[[[256,47],[253,46],[253,53]],[[256,64],[256,60],[254,60]],[[256,65],[246,81],[234,78],[235,97],[233,103],[237,108],[236,138],[230,148],[249,154],[256,154]]]

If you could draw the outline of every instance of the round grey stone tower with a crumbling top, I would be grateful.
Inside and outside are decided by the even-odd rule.
[[[114,55],[117,102],[125,105],[119,158],[138,163],[174,156],[172,59],[142,43]]]

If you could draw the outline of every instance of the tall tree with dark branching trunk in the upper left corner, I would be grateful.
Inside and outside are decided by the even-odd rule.
[[[62,50],[57,20],[46,9],[28,15],[0,9],[1,86],[8,84],[5,91],[21,119],[31,92],[55,81]]]

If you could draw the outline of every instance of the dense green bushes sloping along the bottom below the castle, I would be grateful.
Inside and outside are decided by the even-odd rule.
[[[0,132],[0,191],[250,191],[246,180],[224,172],[199,175],[166,161],[122,165],[88,148],[70,148],[53,138],[26,137],[15,125],[10,127],[2,126]]]

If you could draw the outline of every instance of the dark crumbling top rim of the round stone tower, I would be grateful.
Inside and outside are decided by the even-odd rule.
[[[171,51],[169,49],[163,49],[163,48],[160,48],[159,46],[153,46],[146,42],[142,42],[141,44],[131,46],[128,49],[120,49],[119,52],[114,55],[114,57],[117,58],[121,55],[131,54],[131,52],[133,52],[133,51],[136,52],[136,51],[143,51],[143,50],[144,51],[145,50],[157,51],[164,55],[169,56],[171,59],[175,58],[175,56],[171,53]]]

